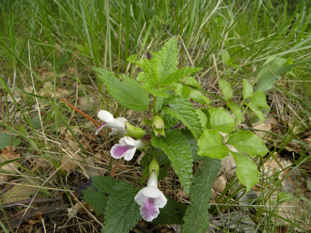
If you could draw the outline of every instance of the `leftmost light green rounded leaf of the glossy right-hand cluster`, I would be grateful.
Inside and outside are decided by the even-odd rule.
[[[205,130],[197,145],[200,156],[223,159],[229,153],[229,148],[222,144],[222,136],[216,130]]]

